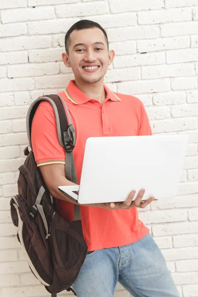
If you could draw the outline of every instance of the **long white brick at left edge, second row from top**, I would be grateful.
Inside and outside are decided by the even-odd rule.
[[[54,17],[54,8],[48,6],[9,9],[1,12],[2,23],[26,22],[41,19],[45,20],[52,19]]]

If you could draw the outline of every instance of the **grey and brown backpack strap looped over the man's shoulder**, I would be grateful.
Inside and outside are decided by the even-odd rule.
[[[30,105],[26,117],[26,129],[29,145],[32,148],[32,121],[36,109],[42,101],[48,101],[54,110],[58,141],[61,147],[65,149],[65,176],[69,181],[77,184],[78,182],[73,156],[73,148],[75,147],[76,142],[75,128],[72,124],[71,116],[69,114],[69,110],[64,99],[62,99],[58,95],[47,95],[39,97]],[[74,216],[75,220],[80,218],[80,206],[76,204],[74,204]]]

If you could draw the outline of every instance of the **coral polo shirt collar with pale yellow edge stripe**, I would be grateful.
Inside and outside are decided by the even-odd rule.
[[[113,92],[111,92],[105,85],[104,90],[106,92],[106,99],[111,101],[121,101]],[[87,97],[80,89],[74,84],[74,80],[71,80],[67,88],[65,89],[66,97],[72,101],[74,104],[86,103],[92,98]]]

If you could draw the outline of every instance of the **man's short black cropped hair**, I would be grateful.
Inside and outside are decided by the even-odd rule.
[[[66,50],[66,52],[67,53],[69,52],[69,37],[70,37],[70,34],[74,30],[83,30],[83,29],[91,29],[91,28],[99,28],[103,32],[106,43],[107,43],[107,47],[108,47],[108,37],[107,37],[105,30],[98,23],[96,23],[94,21],[81,20],[81,21],[78,21],[75,24],[73,24],[65,35],[65,50]]]

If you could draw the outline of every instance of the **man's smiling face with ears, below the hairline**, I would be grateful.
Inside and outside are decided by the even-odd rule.
[[[72,68],[75,78],[90,84],[104,77],[113,57],[114,51],[108,51],[99,28],[73,31],[69,37],[69,52],[62,55],[64,64]]]

